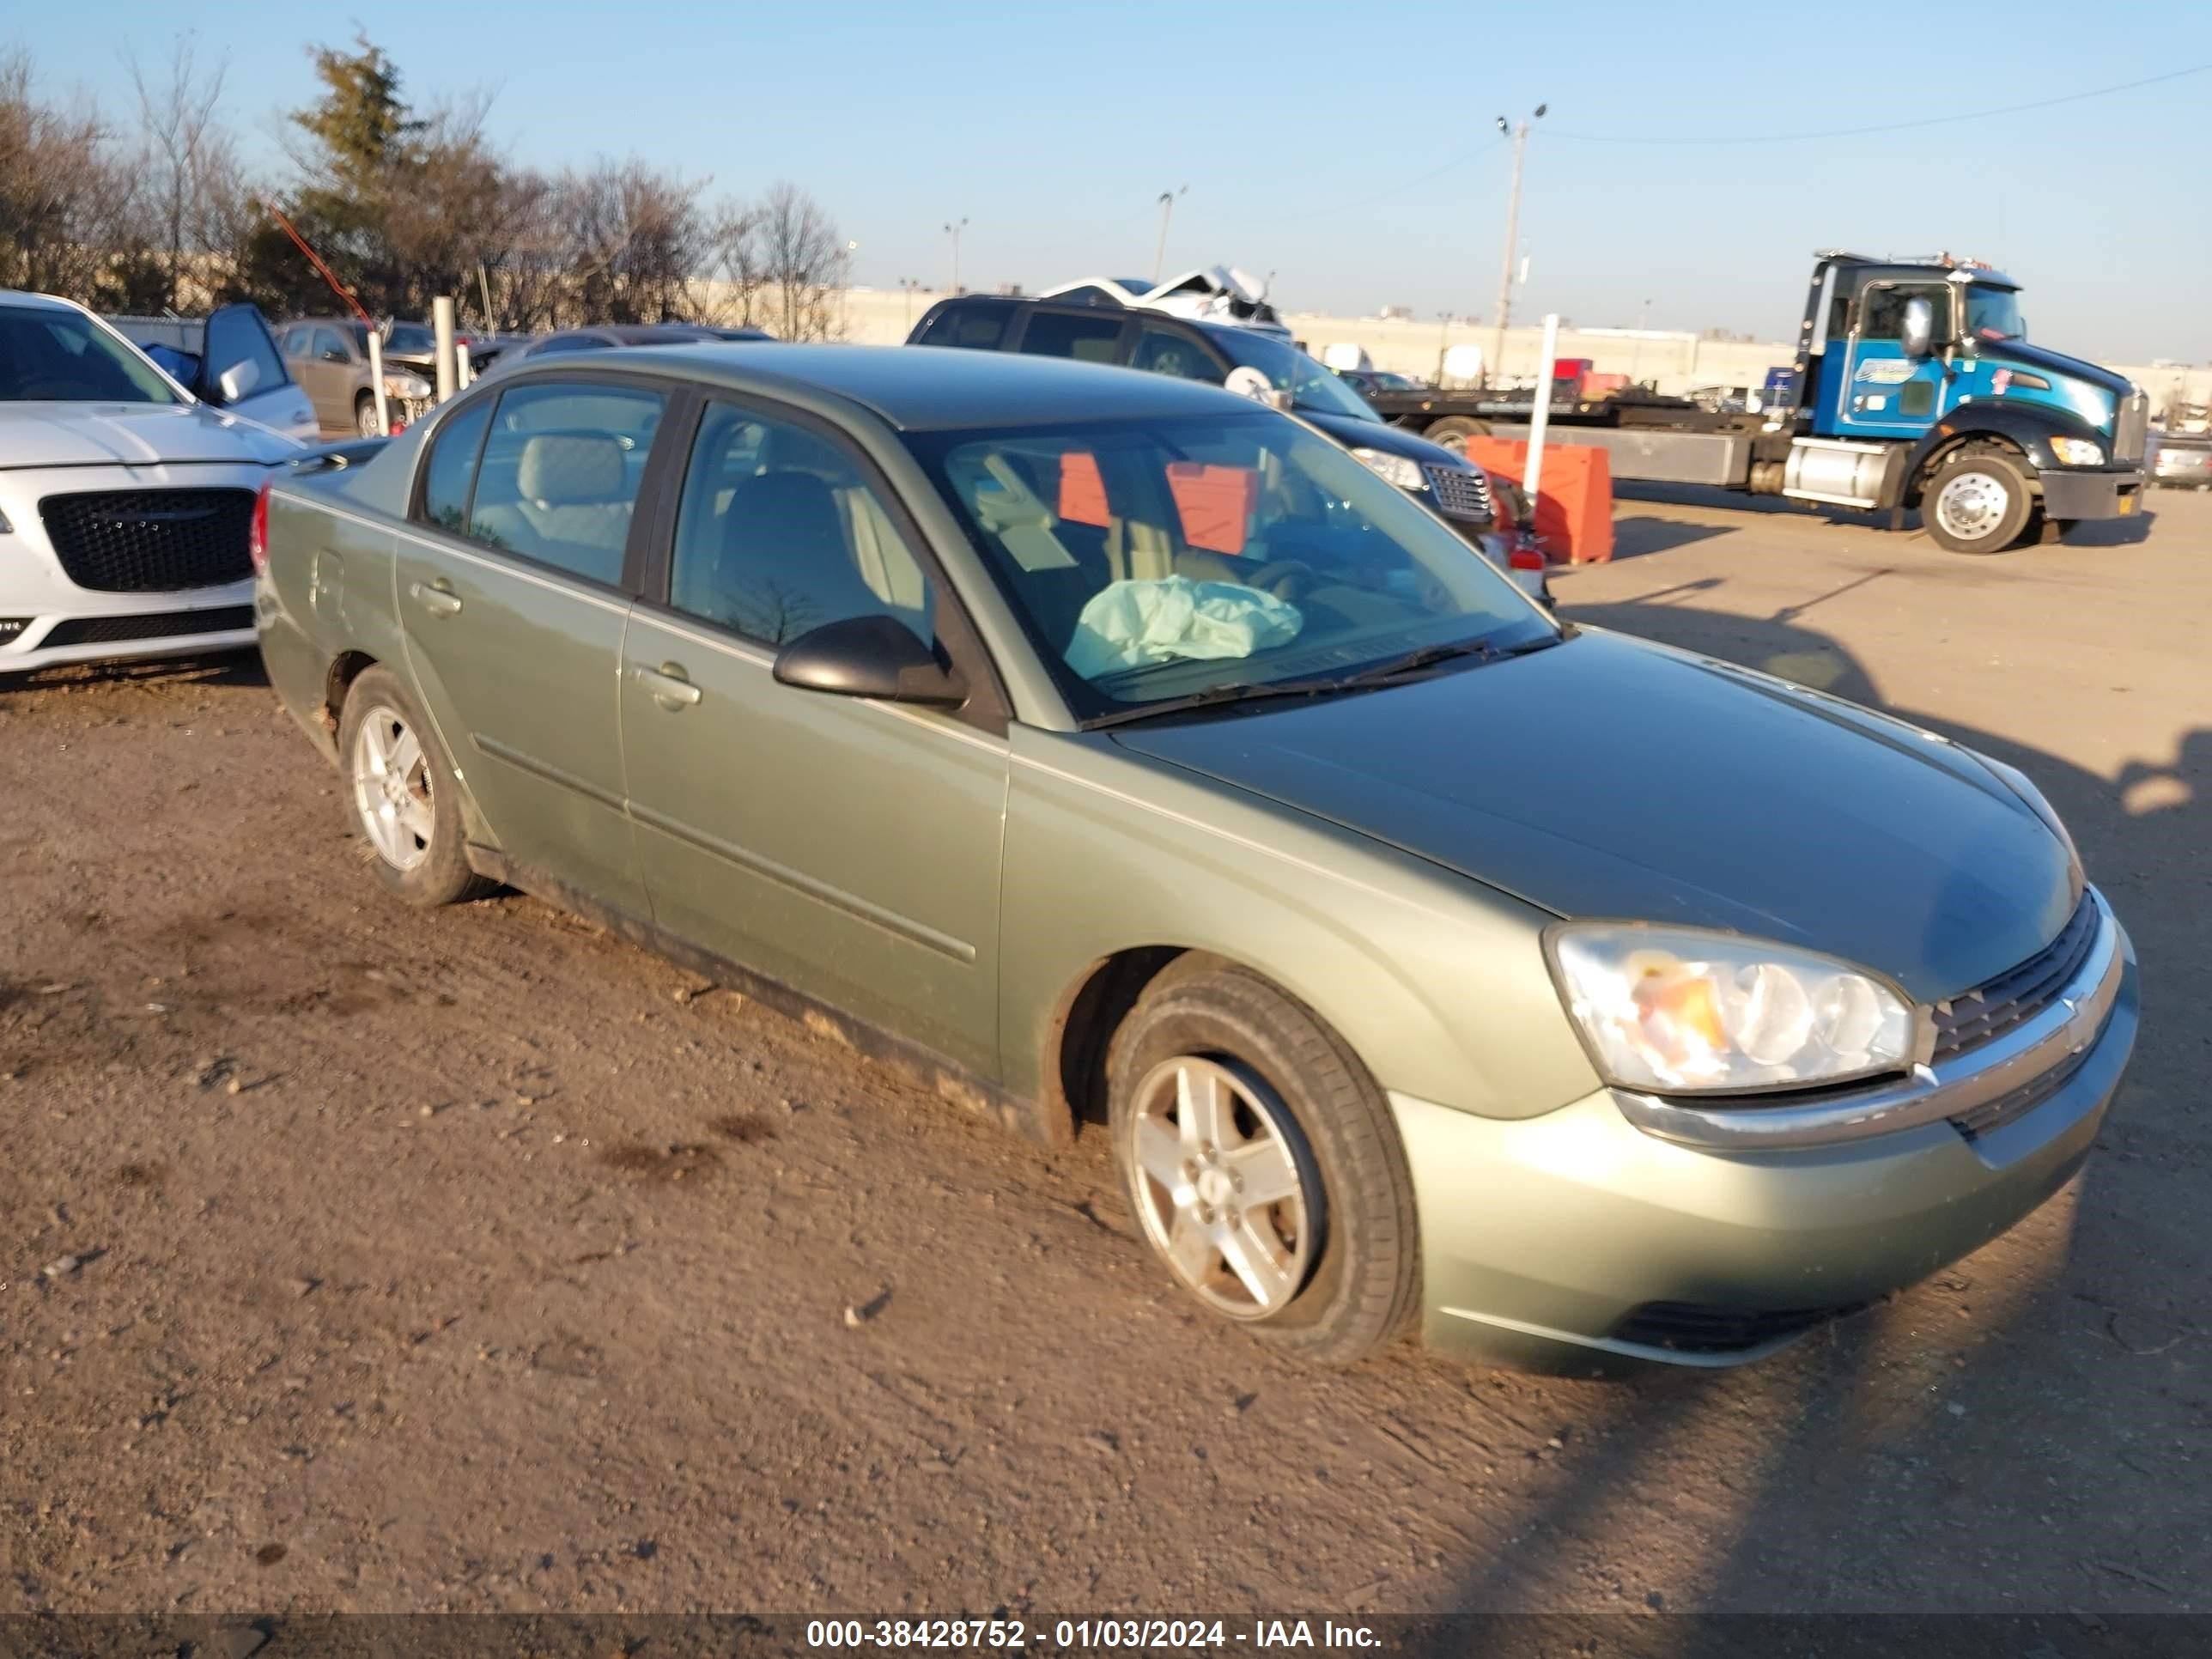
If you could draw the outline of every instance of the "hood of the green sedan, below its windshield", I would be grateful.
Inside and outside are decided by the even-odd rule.
[[[1597,630],[1389,690],[1115,739],[1557,916],[1829,951],[1922,1002],[2026,960],[2079,898],[2066,847],[1971,752]]]

